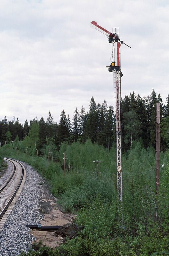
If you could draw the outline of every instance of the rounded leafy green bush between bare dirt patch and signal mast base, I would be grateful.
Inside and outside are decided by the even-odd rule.
[[[115,201],[109,203],[97,195],[93,202],[78,212],[76,222],[84,227],[82,232],[85,237],[92,241],[100,241],[115,235],[113,225],[116,217]]]

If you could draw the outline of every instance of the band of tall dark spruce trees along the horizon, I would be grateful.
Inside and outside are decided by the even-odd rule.
[[[160,93],[158,95],[152,89],[151,95],[141,98],[138,94],[130,93],[121,99],[121,123],[122,123],[122,148],[127,151],[133,141],[141,141],[145,148],[155,148],[156,136],[156,103],[160,103],[160,149],[165,151],[169,146],[169,94],[166,104],[163,104]],[[40,120],[26,119],[22,125],[18,118],[13,117],[8,121],[6,116],[0,121],[1,145],[11,143],[14,140],[26,140],[29,147],[38,149],[43,156],[46,145],[53,143],[56,149],[62,142],[85,143],[90,139],[92,143],[98,143],[110,149],[116,138],[115,115],[112,105],[107,106],[106,100],[96,104],[93,97],[89,102],[89,110],[82,106],[79,111],[74,111],[72,123],[69,114],[64,109],[61,111],[60,122],[54,122],[49,111],[47,121],[43,116]]]

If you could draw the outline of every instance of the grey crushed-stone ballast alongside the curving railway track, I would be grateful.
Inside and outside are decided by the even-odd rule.
[[[26,169],[26,179],[10,216],[0,232],[0,255],[19,255],[22,251],[28,252],[31,242],[35,240],[26,225],[39,224],[42,213],[39,211],[39,200],[42,195],[40,183],[42,178],[31,166],[21,162]],[[9,165],[6,173],[0,179],[0,184],[12,172]]]

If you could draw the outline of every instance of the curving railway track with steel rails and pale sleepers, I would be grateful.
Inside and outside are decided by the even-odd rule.
[[[10,215],[25,182],[26,171],[24,166],[16,160],[3,158],[13,165],[13,171],[0,187],[0,231]]]

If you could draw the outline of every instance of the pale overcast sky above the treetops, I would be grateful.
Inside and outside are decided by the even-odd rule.
[[[121,96],[169,94],[168,0],[1,0],[0,119],[19,122],[49,110],[54,122],[64,109],[114,105],[112,46],[90,22],[120,28]]]

